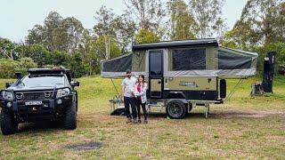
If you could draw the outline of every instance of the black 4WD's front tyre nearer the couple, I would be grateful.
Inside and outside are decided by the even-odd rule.
[[[73,103],[66,112],[64,117],[64,128],[67,130],[75,130],[77,128],[77,105]]]

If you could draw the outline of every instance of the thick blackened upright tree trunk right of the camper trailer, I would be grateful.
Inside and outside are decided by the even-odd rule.
[[[268,52],[267,57],[265,57],[264,78],[262,83],[264,92],[273,92],[273,76],[276,54],[277,52]]]

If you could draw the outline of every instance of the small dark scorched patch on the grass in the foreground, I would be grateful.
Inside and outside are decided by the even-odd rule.
[[[74,144],[74,145],[68,146],[67,148],[74,149],[74,150],[99,149],[99,148],[102,148],[102,142],[89,141],[89,142],[85,142],[85,143]]]

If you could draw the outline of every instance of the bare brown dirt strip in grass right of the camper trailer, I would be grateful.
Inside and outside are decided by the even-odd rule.
[[[256,111],[256,110],[247,110],[247,111],[225,111],[222,113],[216,114],[216,116],[222,116],[225,118],[231,117],[266,117],[266,116],[285,116],[285,111]]]

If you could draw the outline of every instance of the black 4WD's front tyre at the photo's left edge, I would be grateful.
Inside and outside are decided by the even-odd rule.
[[[18,131],[18,123],[14,120],[12,115],[2,109],[1,110],[1,131],[4,135],[12,134]]]

